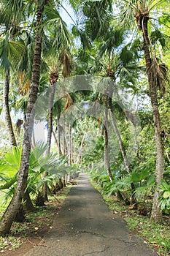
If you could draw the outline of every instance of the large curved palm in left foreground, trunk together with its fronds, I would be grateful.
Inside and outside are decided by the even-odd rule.
[[[32,64],[32,73],[31,73],[31,86],[28,97],[28,105],[26,111],[26,121],[24,128],[24,138],[23,138],[23,152],[20,162],[20,171],[18,175],[18,184],[15,190],[15,195],[12,198],[12,201],[9,203],[7,211],[4,213],[1,219],[0,225],[0,234],[4,235],[9,232],[9,229],[12,225],[12,220],[15,219],[15,214],[20,208],[20,203],[24,195],[24,190],[26,188],[27,176],[28,176],[28,167],[29,167],[29,157],[31,152],[31,135],[33,132],[34,124],[34,104],[38,95],[39,88],[39,76],[40,76],[40,65],[41,65],[41,53],[42,53],[42,37],[43,37],[43,21],[47,24],[47,27],[51,27],[51,31],[55,31],[53,34],[53,47],[55,45],[62,45],[61,32],[65,35],[65,39],[68,41],[69,32],[66,29],[66,24],[63,23],[61,16],[58,11],[53,8],[53,5],[50,1],[36,1],[34,4],[36,10],[36,29],[35,29],[35,47],[34,47],[34,58]],[[46,7],[46,8],[45,8]],[[45,19],[43,20],[43,12],[45,10]],[[28,13],[29,15],[29,13]],[[58,24],[59,29],[56,29],[58,26],[52,26],[52,22],[55,21]],[[33,20],[34,21],[34,20]],[[45,28],[45,26],[44,26]],[[59,32],[59,34],[58,34]],[[44,46],[44,45],[43,45]]]

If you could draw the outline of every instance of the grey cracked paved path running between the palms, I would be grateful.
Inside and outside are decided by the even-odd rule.
[[[113,217],[84,173],[42,244],[25,256],[156,256],[142,240],[131,236],[123,219]]]

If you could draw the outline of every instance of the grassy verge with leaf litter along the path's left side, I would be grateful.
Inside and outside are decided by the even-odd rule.
[[[58,195],[49,196],[45,206],[36,206],[36,210],[26,214],[25,222],[13,222],[9,236],[0,236],[0,255],[9,255],[24,243],[42,238],[45,233],[53,228],[53,219],[59,214],[66,195],[72,186],[67,186],[58,192]],[[2,214],[4,207],[0,207]]]

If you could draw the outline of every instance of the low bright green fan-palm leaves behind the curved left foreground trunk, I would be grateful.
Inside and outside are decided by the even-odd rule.
[[[26,205],[26,200],[31,200],[29,195],[32,199],[42,195],[42,187],[45,182],[49,187],[53,187],[56,180],[66,173],[66,159],[58,158],[58,155],[52,153],[45,156],[46,150],[47,145],[39,142],[31,151],[26,197],[24,197]],[[21,148],[13,148],[12,151],[5,154],[4,159],[1,159],[0,162],[0,189],[6,193],[6,201],[10,200],[15,192],[21,152]],[[48,176],[43,176],[45,170],[48,170]]]

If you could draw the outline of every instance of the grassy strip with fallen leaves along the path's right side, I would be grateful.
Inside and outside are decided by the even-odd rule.
[[[160,256],[170,255],[170,225],[168,216],[163,218],[163,224],[151,222],[149,216],[142,216],[139,212],[124,202],[117,201],[115,196],[105,195],[100,186],[92,181],[93,187],[101,193],[110,210],[115,217],[123,217],[129,229],[135,236],[140,236],[144,244],[148,244]]]

